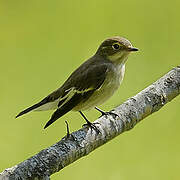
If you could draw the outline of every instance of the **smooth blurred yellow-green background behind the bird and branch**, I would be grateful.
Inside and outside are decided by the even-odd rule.
[[[180,1],[0,1],[0,171],[38,153],[84,120],[70,112],[47,130],[52,112],[15,115],[58,88],[107,37],[128,38],[140,51],[127,62],[110,110],[180,65]],[[180,97],[133,130],[52,176],[53,180],[180,178]],[[86,113],[95,120],[99,113]]]

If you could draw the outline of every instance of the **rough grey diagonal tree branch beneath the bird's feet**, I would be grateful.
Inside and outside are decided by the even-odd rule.
[[[77,159],[109,140],[132,129],[138,122],[180,94],[180,66],[172,69],[158,81],[129,98],[112,112],[119,117],[103,116],[95,122],[101,131],[84,127],[73,132],[69,138],[40,151],[24,162],[0,173],[0,180],[50,179],[56,173]]]

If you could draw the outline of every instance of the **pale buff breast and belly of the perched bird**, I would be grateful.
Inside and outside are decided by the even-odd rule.
[[[119,88],[119,85],[123,80],[124,73],[125,65],[114,68],[112,71],[108,72],[103,85],[98,90],[96,90],[87,101],[80,103],[73,110],[83,111],[104,103]]]

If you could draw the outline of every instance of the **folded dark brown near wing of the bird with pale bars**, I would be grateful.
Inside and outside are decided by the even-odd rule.
[[[91,65],[83,72],[75,72],[68,79],[68,84],[71,83],[73,95],[67,101],[60,101],[59,108],[53,113],[51,119],[47,122],[44,128],[47,128],[57,119],[73,109],[77,104],[86,101],[95,90],[97,90],[104,82],[108,71],[107,64]],[[64,88],[68,89],[66,84]]]

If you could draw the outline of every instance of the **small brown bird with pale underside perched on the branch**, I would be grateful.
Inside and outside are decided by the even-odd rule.
[[[40,102],[21,111],[22,116],[30,111],[55,110],[44,129],[69,111],[77,111],[86,120],[86,125],[96,129],[82,111],[95,108],[108,100],[119,88],[125,73],[125,63],[131,52],[138,51],[124,37],[105,39],[96,53],[81,64],[58,89]]]

